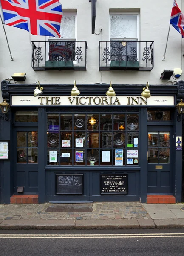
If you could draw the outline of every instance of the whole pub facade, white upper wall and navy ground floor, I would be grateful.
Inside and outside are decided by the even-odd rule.
[[[61,38],[5,25],[10,58],[0,27],[0,203],[181,202],[184,49],[173,27],[163,61],[173,0],[60,2]]]

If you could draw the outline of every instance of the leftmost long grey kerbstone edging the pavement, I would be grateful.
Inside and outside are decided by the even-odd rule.
[[[74,229],[75,220],[5,220],[0,229]]]

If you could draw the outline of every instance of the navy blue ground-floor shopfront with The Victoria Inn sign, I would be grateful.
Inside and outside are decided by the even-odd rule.
[[[11,113],[1,118],[0,139],[10,140],[11,154],[0,162],[1,203],[20,187],[25,195],[38,194],[40,203],[146,202],[148,194],[181,201],[178,85],[167,95],[152,86],[151,103],[140,97],[139,85],[114,86],[117,98],[99,96],[105,84],[88,85],[88,94],[77,97],[63,85],[54,94],[43,85],[39,97],[33,85],[22,93],[21,84],[2,86]]]

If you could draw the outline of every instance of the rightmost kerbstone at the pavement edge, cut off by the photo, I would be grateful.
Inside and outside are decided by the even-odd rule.
[[[184,228],[184,219],[154,220],[156,228]]]

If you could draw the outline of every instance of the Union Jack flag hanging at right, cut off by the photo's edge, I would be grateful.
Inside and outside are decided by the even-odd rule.
[[[176,0],[174,0],[173,3],[170,24],[182,35],[182,38],[184,38],[184,14],[179,9]]]

